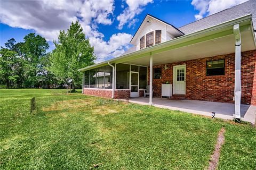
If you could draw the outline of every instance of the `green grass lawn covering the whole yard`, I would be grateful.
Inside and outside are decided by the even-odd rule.
[[[0,89],[0,169],[205,169],[222,127],[218,169],[256,169],[250,124],[64,91]]]

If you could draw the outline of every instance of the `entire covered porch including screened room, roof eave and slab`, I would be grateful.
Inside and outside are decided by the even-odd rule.
[[[255,47],[252,20],[247,15],[80,69],[83,93],[204,115],[217,109],[216,117],[246,120],[249,105],[256,104]],[[207,66],[214,63],[222,74],[207,74]],[[166,82],[172,84],[171,95],[186,100],[153,98],[162,96],[161,86]],[[149,98],[137,98],[146,88]],[[254,118],[248,121],[254,122],[255,112],[249,115]]]

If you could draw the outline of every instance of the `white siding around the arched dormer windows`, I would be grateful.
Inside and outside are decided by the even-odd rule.
[[[162,30],[162,35],[161,35],[161,43],[166,41],[166,24],[159,22],[155,19],[151,19],[150,23],[146,23],[146,25],[141,28],[140,32],[138,33],[138,38],[137,38],[137,50],[140,50],[140,38],[145,36],[146,34],[154,31],[154,45],[155,45],[155,30]],[[145,44],[146,44],[146,39],[145,39]]]

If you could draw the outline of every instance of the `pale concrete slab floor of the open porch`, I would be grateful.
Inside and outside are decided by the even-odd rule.
[[[129,102],[142,105],[149,105],[149,98],[137,97],[130,98]],[[233,120],[235,113],[234,104],[219,103],[212,101],[200,100],[170,100],[167,98],[153,98],[153,106],[160,108],[168,108],[174,111],[182,111],[204,116],[211,116],[215,112],[215,117],[226,120]],[[256,106],[241,105],[242,121],[255,124]]]

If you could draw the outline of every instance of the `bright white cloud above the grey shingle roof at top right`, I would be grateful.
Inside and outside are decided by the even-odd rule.
[[[191,5],[199,11],[199,13],[195,15],[195,19],[199,20],[202,19],[205,14],[212,15],[246,1],[248,0],[193,0]]]

